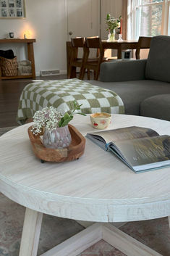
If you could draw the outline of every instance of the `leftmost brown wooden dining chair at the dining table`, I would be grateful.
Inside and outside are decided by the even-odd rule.
[[[67,73],[67,78],[73,78],[72,73],[73,70],[76,69],[76,67],[80,67],[80,74],[79,79],[82,76],[82,62],[85,59],[85,38],[78,37],[78,38],[72,38],[72,52],[71,57],[69,61],[69,68]],[[79,58],[78,54],[80,53],[80,49],[82,49],[82,57]]]

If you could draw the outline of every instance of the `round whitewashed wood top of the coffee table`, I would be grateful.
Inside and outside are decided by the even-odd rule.
[[[97,131],[89,115],[75,115],[71,124],[84,136]],[[27,135],[30,125],[0,137],[0,191],[9,199],[75,220],[119,222],[170,215],[170,168],[136,174],[88,139],[79,160],[42,164]],[[170,122],[132,115],[112,115],[109,129],[131,125],[170,135]]]

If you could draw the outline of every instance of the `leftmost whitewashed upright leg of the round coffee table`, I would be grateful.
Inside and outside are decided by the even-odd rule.
[[[26,208],[19,256],[36,256],[43,213]]]

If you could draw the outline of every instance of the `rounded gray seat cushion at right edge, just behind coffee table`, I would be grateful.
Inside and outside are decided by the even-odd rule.
[[[170,94],[145,99],[140,105],[140,115],[170,121]]]

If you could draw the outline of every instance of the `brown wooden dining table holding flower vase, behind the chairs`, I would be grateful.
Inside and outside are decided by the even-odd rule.
[[[107,40],[102,40],[102,46],[104,51],[104,57],[111,57],[111,51],[106,51],[107,49],[117,50],[117,59],[122,59],[122,51],[127,49],[137,49],[138,41],[112,41],[108,42]],[[67,73],[69,68],[69,59],[73,51],[71,41],[67,41]],[[75,54],[77,54],[78,49],[74,49]],[[72,78],[76,77],[76,68],[72,70]]]

